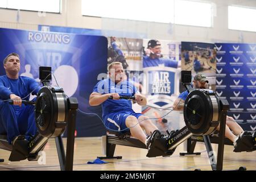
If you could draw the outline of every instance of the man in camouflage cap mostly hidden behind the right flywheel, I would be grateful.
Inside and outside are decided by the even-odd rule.
[[[193,78],[193,88],[195,89],[205,89],[206,83],[208,83],[207,77],[203,73],[197,73]],[[174,110],[183,110],[184,109],[184,103],[186,98],[188,97],[188,91],[182,92],[179,97],[174,102],[174,105],[172,106]],[[226,130],[225,130],[225,137],[230,139],[235,146],[235,142],[238,139],[238,136],[234,135],[232,131],[236,135],[241,135],[243,133],[243,129],[236,121],[234,121],[234,118],[226,116]],[[220,125],[217,127],[217,130],[220,130]]]

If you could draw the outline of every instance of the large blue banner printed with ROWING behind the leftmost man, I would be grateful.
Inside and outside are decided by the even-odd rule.
[[[0,59],[9,53],[20,56],[20,75],[39,81],[39,67],[52,67],[52,85],[59,85],[69,97],[76,97],[79,109],[101,116],[101,106],[90,107],[89,96],[94,85],[106,73],[108,42],[103,36],[22,31],[0,28]],[[5,75],[1,67],[0,74]],[[77,137],[100,136],[105,128],[95,115],[77,111]]]

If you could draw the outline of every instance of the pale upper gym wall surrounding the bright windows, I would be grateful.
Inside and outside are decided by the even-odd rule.
[[[106,0],[108,1],[108,0]],[[17,10],[0,9],[0,27],[38,30],[38,24],[92,28],[101,30],[119,30],[134,33],[134,38],[155,38],[195,42],[245,42],[256,43],[256,33],[228,30],[228,5],[250,6],[256,8],[255,0],[205,0],[216,5],[213,27],[194,27],[167,23],[139,22],[133,20],[96,18],[81,15],[81,0],[63,0],[61,14],[43,14],[32,11],[20,11],[17,22]],[[160,5],[156,5],[160,9]],[[188,15],[189,16],[189,15]],[[251,22],[255,24],[255,18]],[[123,36],[126,36],[124,33]],[[141,37],[142,38],[142,37]]]

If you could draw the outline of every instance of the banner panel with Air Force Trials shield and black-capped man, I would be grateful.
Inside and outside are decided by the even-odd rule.
[[[142,113],[152,119],[160,131],[179,129],[179,114],[171,108],[179,93],[180,42],[143,39],[143,94],[147,103]]]

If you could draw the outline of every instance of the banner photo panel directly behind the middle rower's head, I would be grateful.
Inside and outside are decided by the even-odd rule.
[[[122,63],[125,75],[142,92],[142,39],[108,38],[108,65]],[[142,107],[133,103],[133,110],[141,113]]]

